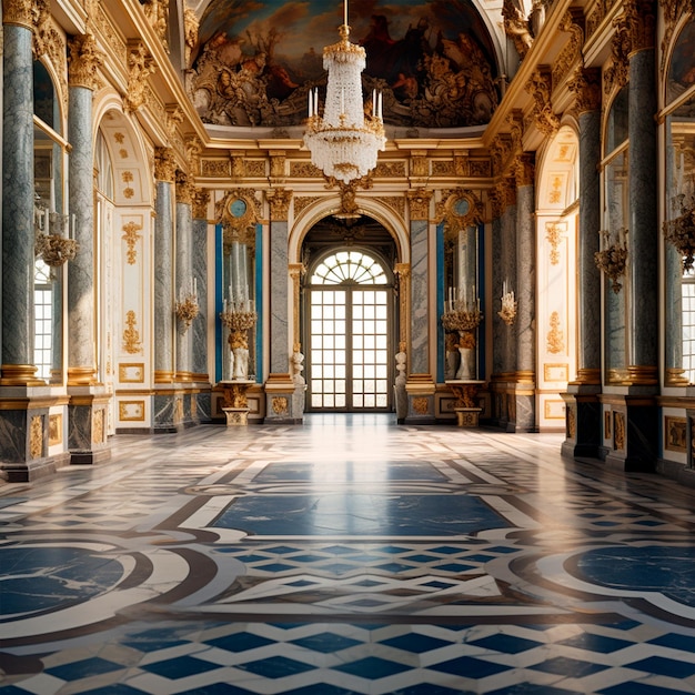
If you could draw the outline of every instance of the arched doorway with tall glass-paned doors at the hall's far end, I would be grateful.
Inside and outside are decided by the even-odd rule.
[[[328,219],[304,240],[306,411],[390,411],[395,244],[376,222]]]

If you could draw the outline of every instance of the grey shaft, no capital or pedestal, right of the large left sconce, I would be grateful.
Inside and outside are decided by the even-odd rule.
[[[69,105],[69,201],[79,251],[68,262],[68,383],[77,385],[97,381],[92,91],[71,84]]]

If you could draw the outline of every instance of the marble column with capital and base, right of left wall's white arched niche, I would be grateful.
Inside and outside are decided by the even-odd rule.
[[[153,427],[155,432],[175,430],[180,410],[173,393],[174,382],[174,245],[173,183],[175,161],[168,148],[157,148],[154,179],[154,383]]]

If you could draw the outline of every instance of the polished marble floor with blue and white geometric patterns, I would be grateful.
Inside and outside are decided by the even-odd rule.
[[[314,415],[0,487],[0,692],[695,693],[695,495]]]

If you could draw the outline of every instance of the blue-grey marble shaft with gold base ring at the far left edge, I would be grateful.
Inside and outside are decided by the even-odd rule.
[[[36,372],[32,30],[30,17],[27,24],[8,23],[7,16],[3,20],[1,383],[31,384]]]

